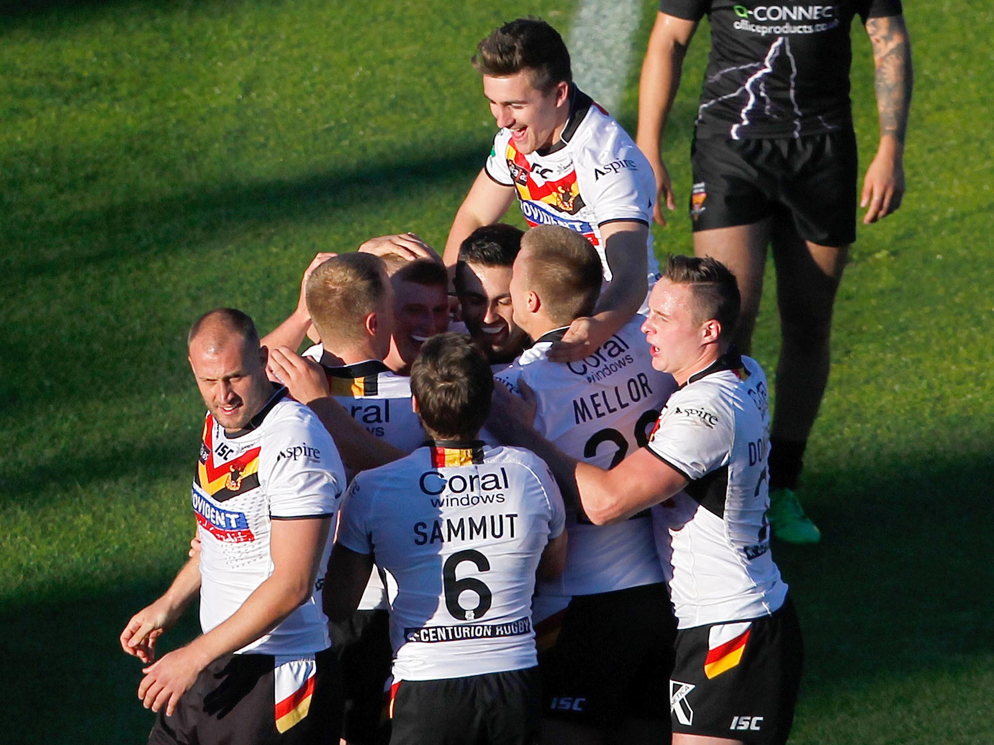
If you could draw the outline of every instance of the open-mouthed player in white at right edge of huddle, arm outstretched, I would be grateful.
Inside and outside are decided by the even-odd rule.
[[[783,743],[802,643],[769,551],[766,378],[730,349],[735,277],[713,258],[671,256],[643,330],[656,370],[680,388],[646,447],[606,471],[491,417],[499,436],[538,452],[576,487],[592,522],[652,506],[677,616],[670,676],[673,742]],[[514,437],[517,429],[517,436]],[[507,435],[512,435],[507,437]],[[672,498],[672,499],[671,499]]]

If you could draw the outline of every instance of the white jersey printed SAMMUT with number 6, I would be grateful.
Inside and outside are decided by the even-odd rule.
[[[386,574],[394,677],[535,667],[535,570],[564,521],[548,467],[519,448],[436,441],[356,476],[338,542]]]

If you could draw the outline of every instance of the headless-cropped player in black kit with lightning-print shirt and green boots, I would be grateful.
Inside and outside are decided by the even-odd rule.
[[[857,157],[849,100],[849,27],[859,15],[873,45],[880,145],[867,169],[865,224],[897,210],[905,192],[911,48],[901,0],[660,0],[639,86],[636,141],[675,209],[660,136],[698,23],[711,23],[711,59],[692,148],[694,251],[739,281],[736,343],[747,354],[766,246],[776,264],[783,347],[776,369],[769,519],[798,543],[820,533],[794,490],[828,380],[829,335],[847,249],[856,238]],[[657,205],[656,220],[665,224]]]

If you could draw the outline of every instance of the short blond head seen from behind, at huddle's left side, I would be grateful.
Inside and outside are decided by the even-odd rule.
[[[372,253],[344,253],[319,265],[304,287],[307,312],[332,350],[366,338],[371,313],[391,312],[390,280],[383,260]]]

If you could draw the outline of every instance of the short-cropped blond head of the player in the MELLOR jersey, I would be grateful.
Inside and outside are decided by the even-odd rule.
[[[515,271],[523,286],[542,298],[549,320],[569,326],[593,313],[600,297],[602,268],[592,245],[562,225],[538,225],[521,239]]]

